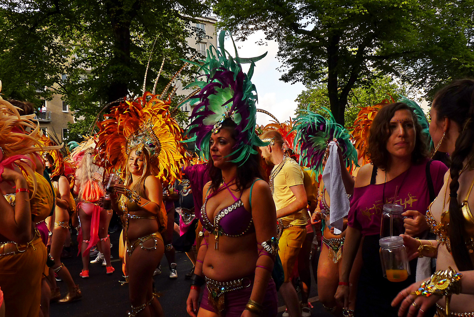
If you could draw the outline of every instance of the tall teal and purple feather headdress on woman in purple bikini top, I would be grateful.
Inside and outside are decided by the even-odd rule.
[[[232,162],[243,164],[251,154],[257,154],[255,146],[268,144],[255,133],[257,94],[255,85],[250,79],[254,73],[255,62],[267,53],[254,58],[240,58],[234,45],[236,58],[232,58],[224,48],[225,31],[219,34],[219,49],[212,45],[206,51],[203,65],[190,62],[200,67],[205,75],[197,76],[194,83],[185,88],[198,86],[201,91],[188,101],[196,104],[191,114],[188,129],[190,139],[201,157],[209,159],[209,140],[212,133],[218,133],[222,122],[231,119],[237,124],[237,142],[234,152],[239,154]],[[242,71],[241,64],[250,63],[248,74]],[[205,81],[198,77],[204,77]]]

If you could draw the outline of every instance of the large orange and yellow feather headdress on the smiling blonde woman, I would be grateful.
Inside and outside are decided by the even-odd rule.
[[[170,87],[171,82],[161,94],[144,92],[134,100],[124,98],[112,107],[110,114],[104,115],[107,119],[97,123],[100,131],[96,151],[100,166],[123,175],[130,150],[136,149],[137,153],[145,150],[150,156],[153,175],[168,183],[180,178],[185,153],[181,143],[183,131],[169,111],[175,87],[161,99]]]

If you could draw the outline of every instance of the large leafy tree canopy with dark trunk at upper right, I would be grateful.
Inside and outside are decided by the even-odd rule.
[[[473,76],[473,1],[215,0],[221,24],[239,40],[263,30],[279,44],[285,82],[327,85],[344,124],[354,87],[382,71],[428,95]]]

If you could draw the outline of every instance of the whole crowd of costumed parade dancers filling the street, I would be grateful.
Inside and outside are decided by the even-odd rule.
[[[309,317],[310,267],[334,316],[474,316],[474,80],[439,90],[429,123],[397,96],[347,130],[321,108],[262,131],[251,77],[263,56],[229,56],[224,36],[188,85],[186,131],[171,82],[112,104],[68,148],[30,103],[0,98],[0,317],[88,296],[76,282],[90,263],[114,273],[114,213],[130,316],[166,314],[153,277],[164,255],[177,278],[176,250],[193,263],[192,317],[273,317],[277,292],[283,317]],[[73,229],[79,276],[61,262]]]

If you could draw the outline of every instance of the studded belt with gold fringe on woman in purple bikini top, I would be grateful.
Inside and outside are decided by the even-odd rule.
[[[222,316],[225,309],[224,294],[232,290],[249,287],[250,285],[252,285],[252,280],[248,277],[229,282],[218,282],[206,278],[206,286],[209,291],[209,303],[214,308],[214,311],[216,311],[219,316]]]

